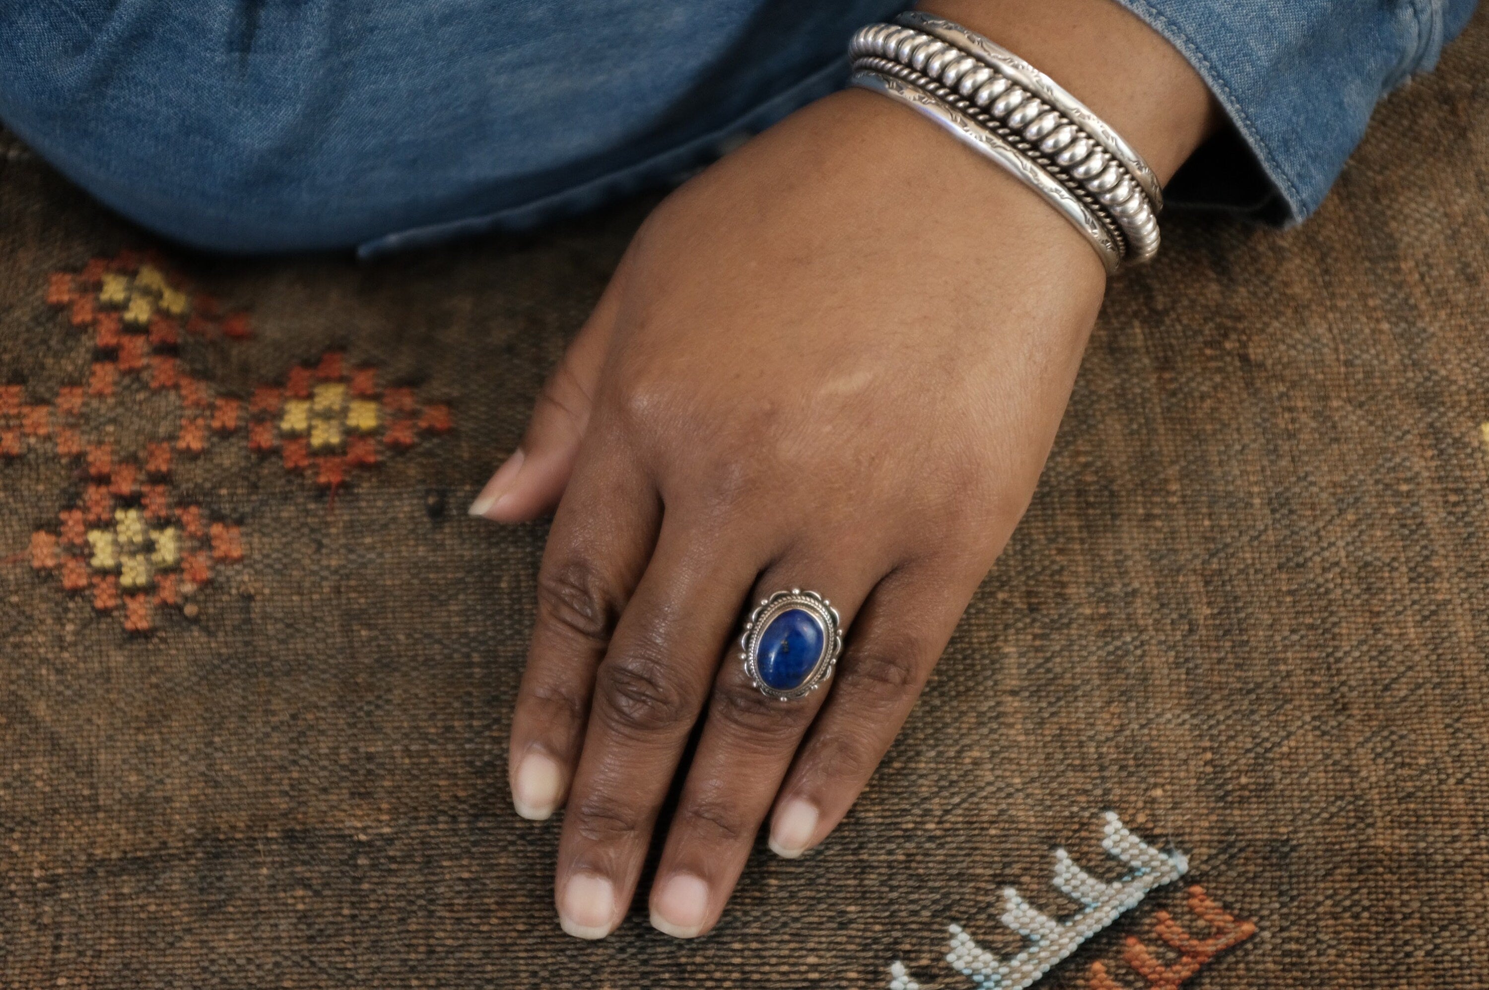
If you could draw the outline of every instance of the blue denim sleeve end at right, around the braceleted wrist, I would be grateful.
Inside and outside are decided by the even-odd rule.
[[[1477,0],[1118,0],[1205,77],[1234,130],[1166,198],[1297,223],[1318,208],[1380,98],[1431,70]],[[1249,153],[1236,155],[1236,143]]]

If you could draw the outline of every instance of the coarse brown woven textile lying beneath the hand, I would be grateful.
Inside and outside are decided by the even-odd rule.
[[[1191,986],[1489,986],[1486,76],[1480,15],[1315,220],[1166,225],[1158,262],[1112,286],[1033,506],[870,791],[813,856],[761,849],[692,944],[643,911],[600,944],[560,933],[558,828],[520,820],[505,782],[543,527],[465,517],[643,207],[372,266],[167,252],[222,305],[197,298],[207,323],[146,362],[179,353],[197,384],[122,371],[73,414],[63,387],[137,345],[97,347],[107,320],[73,326],[68,293],[103,290],[89,259],[152,241],[7,143],[0,386],[51,405],[27,430],[0,392],[21,448],[0,457],[0,984],[874,987],[904,959],[971,986],[941,962],[946,926],[1013,948],[1004,884],[1072,910],[1050,850],[1114,875],[1111,808],[1257,926]],[[344,369],[289,375],[326,351]],[[286,427],[293,396],[252,412],[253,387],[362,365],[380,463],[317,484],[347,436],[286,469],[313,436]],[[208,421],[220,397],[244,403],[231,430]],[[441,402],[453,432],[384,442]],[[74,427],[138,478],[58,454]],[[144,470],[149,442],[173,445],[168,472]],[[180,600],[135,601],[152,631],[128,631],[140,595],[100,591],[60,514],[144,506],[156,482],[205,570],[162,566]],[[1100,960],[1145,986],[1123,939],[1157,947],[1160,908],[1203,932],[1182,887],[1047,984]]]

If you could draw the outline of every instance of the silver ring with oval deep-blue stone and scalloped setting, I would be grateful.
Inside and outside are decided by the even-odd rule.
[[[804,698],[832,676],[843,633],[832,603],[816,591],[777,591],[762,600],[740,636],[744,673],[767,698]]]

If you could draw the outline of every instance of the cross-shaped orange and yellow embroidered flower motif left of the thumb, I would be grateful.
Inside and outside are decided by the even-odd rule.
[[[176,494],[179,459],[241,436],[250,451],[277,450],[286,470],[334,491],[384,451],[453,429],[448,406],[421,403],[411,389],[381,389],[374,368],[347,368],[339,351],[292,368],[283,386],[247,400],[220,395],[186,374],[180,348],[200,338],[241,344],[253,338],[252,320],[185,289],[152,255],[121,252],[55,272],[45,296],[73,332],[88,335],[94,359],[86,381],[63,386],[49,403],[33,402],[25,386],[0,386],[0,466],[51,453],[82,482],[21,558],[97,613],[118,615],[127,633],[153,631],[164,609],[194,615],[192,597],[246,557],[238,524]],[[170,424],[167,439],[140,450],[109,439],[112,427],[100,424],[119,415],[127,386],[161,396],[168,412],[155,426]]]

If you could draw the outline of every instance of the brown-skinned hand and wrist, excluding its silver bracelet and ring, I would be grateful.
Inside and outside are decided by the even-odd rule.
[[[1060,80],[1163,179],[1217,127],[1111,0],[926,6]],[[837,826],[1029,503],[1103,290],[1044,199],[862,91],[652,213],[472,506],[557,506],[509,773],[523,816],[566,807],[564,930],[621,923],[679,770],[651,889],[670,935],[713,927],[767,817],[789,858]],[[831,598],[847,642],[791,703],[734,646],[782,588]]]

